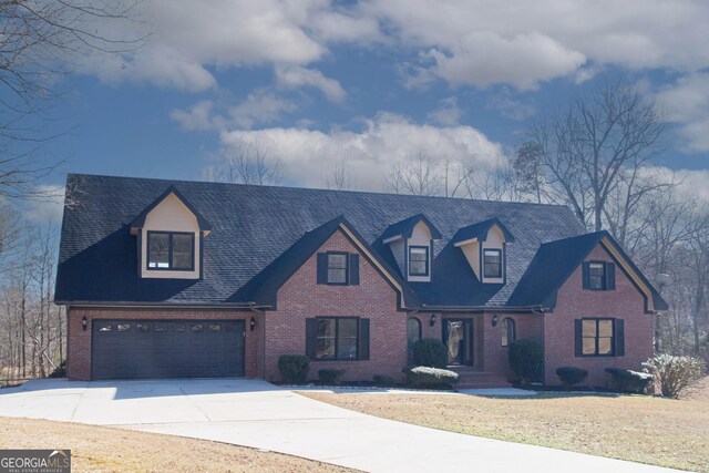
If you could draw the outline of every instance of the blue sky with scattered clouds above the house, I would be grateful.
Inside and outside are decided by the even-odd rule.
[[[69,172],[196,178],[239,141],[323,186],[356,188],[424,152],[494,165],[530,121],[600,82],[655,96],[671,121],[656,164],[709,182],[705,0],[143,0],[123,54],[89,54],[52,144]],[[136,32],[136,30],[141,32]],[[119,33],[122,33],[119,31]],[[55,181],[60,181],[55,178]],[[51,184],[51,183],[48,183]]]

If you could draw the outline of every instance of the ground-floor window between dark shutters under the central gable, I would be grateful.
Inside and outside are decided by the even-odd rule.
[[[359,319],[316,319],[316,360],[357,360]]]

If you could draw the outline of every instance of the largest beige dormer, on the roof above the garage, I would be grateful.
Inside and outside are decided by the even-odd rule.
[[[142,278],[199,279],[209,223],[171,186],[131,223]]]

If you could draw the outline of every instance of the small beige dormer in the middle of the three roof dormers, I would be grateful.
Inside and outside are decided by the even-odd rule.
[[[390,225],[381,236],[389,245],[403,277],[412,282],[429,282],[433,260],[433,241],[441,233],[419,214]]]

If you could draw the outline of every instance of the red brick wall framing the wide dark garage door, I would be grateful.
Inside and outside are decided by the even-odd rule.
[[[81,320],[86,317],[89,326],[84,331]],[[263,376],[263,315],[258,312],[235,311],[208,311],[195,309],[185,310],[145,310],[145,309],[80,309],[71,308],[68,312],[68,377],[74,380],[89,380],[91,378],[91,326],[92,321],[102,319],[130,319],[130,320],[165,320],[165,319],[194,319],[194,320],[246,320],[246,347],[245,372],[249,378]],[[256,329],[250,331],[249,321],[256,319]]]

